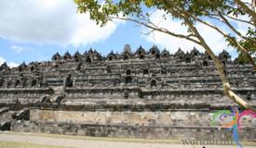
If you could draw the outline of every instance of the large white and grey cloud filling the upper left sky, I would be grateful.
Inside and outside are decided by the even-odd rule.
[[[85,45],[104,40],[119,22],[96,26],[73,0],[0,1],[0,37],[26,43]]]

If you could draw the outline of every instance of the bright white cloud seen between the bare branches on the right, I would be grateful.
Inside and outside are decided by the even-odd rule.
[[[163,14],[164,13],[162,11],[155,11],[155,13],[151,16],[152,21],[155,22],[156,24],[159,24],[159,27],[166,28],[169,31],[181,33],[181,34],[188,34],[187,28],[185,26],[182,26],[181,20],[162,19]],[[225,42],[225,39],[222,37],[222,35],[219,32],[201,23],[198,23],[195,26],[197,30],[201,33],[201,35],[206,39],[206,42],[213,49],[213,52],[215,54],[222,52],[223,49],[226,49],[228,51],[234,50],[233,48],[227,45],[227,43]],[[229,31],[227,28],[222,28],[222,30]],[[143,29],[143,31],[149,31],[149,30]],[[163,47],[167,47],[167,49],[171,53],[175,53],[179,49],[179,47],[181,47],[182,50],[184,51],[191,51],[194,47],[199,49],[200,51],[204,51],[204,49],[200,45],[197,45],[185,39],[170,36],[168,34],[165,34],[159,31],[155,31],[154,33],[151,33],[150,35],[147,35],[147,36],[143,35],[143,37],[151,43],[155,43]]]

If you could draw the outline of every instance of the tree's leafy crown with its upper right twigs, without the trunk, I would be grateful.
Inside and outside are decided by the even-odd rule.
[[[182,19],[181,12],[186,12],[189,19],[195,23],[202,17],[216,19],[220,22],[225,22],[227,27],[233,28],[234,35],[224,34],[226,41],[237,49],[239,54],[243,56],[244,61],[249,61],[249,56],[255,54],[255,38],[256,38],[256,13],[253,10],[248,10],[249,4],[243,3],[240,0],[74,0],[77,4],[80,13],[88,12],[90,19],[93,19],[97,24],[104,26],[109,20],[116,18],[132,18],[139,21],[149,19],[149,9],[163,10],[170,14],[173,18]],[[243,5],[240,5],[242,3]],[[178,12],[178,13],[175,13]],[[180,13],[180,14],[179,14]],[[250,25],[246,36],[236,31],[230,20],[243,21],[239,19],[241,16],[248,16],[249,20],[244,20],[244,23]],[[237,20],[236,20],[237,19]],[[247,22],[246,22],[247,21]],[[147,23],[147,22],[146,22]],[[185,23],[185,22],[184,22]],[[238,37],[236,37],[236,35]],[[239,44],[238,44],[239,43]],[[239,47],[239,45],[241,45]],[[248,54],[241,52],[239,48],[245,48]],[[245,50],[244,50],[245,51]],[[244,53],[244,54],[243,54]],[[255,66],[256,68],[256,66]]]

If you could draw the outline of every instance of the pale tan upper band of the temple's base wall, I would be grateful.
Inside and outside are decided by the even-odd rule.
[[[34,122],[130,126],[209,127],[208,112],[198,111],[52,111],[31,109]],[[256,125],[256,122],[255,122]]]

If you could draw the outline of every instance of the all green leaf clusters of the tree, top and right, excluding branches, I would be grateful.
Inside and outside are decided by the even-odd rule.
[[[242,6],[230,0],[74,0],[74,2],[77,4],[78,12],[89,13],[90,19],[95,20],[101,26],[112,20],[111,17],[128,17],[144,21],[141,20],[141,16],[150,17],[150,14],[145,11],[146,8],[165,11],[173,19],[182,19],[181,12],[186,12],[195,18],[209,15],[216,17],[219,14],[237,17],[247,14]],[[195,19],[191,16],[188,20],[195,25]],[[183,25],[187,25],[184,20],[182,22]],[[190,30],[189,32],[192,33]],[[228,35],[226,42],[238,49],[238,41],[253,55],[256,52],[255,36],[255,28],[249,28],[246,39],[238,41],[235,37]]]

